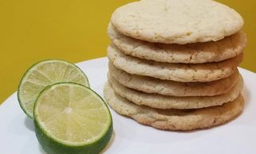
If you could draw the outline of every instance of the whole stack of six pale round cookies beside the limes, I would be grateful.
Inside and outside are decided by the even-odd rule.
[[[242,112],[242,17],[211,0],[142,0],[108,25],[113,110],[158,129],[209,128]]]

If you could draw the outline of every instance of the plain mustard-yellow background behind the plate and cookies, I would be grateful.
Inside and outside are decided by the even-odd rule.
[[[0,104],[17,90],[31,64],[57,58],[73,63],[106,55],[111,13],[132,0],[0,0]],[[245,19],[242,67],[256,71],[256,1],[219,0]]]

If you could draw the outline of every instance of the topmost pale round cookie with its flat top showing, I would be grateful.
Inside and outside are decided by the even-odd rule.
[[[116,9],[111,23],[128,37],[188,44],[222,40],[242,29],[243,19],[211,0],[144,0]]]

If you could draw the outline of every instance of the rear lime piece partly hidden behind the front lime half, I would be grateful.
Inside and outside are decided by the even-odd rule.
[[[18,87],[18,102],[29,117],[33,117],[33,104],[37,95],[53,83],[73,82],[89,87],[88,79],[79,67],[64,60],[45,60],[33,64]]]

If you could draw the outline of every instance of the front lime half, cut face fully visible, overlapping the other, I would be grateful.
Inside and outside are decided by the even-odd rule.
[[[112,136],[106,103],[76,83],[46,87],[38,95],[33,117],[37,139],[49,154],[96,154]]]

